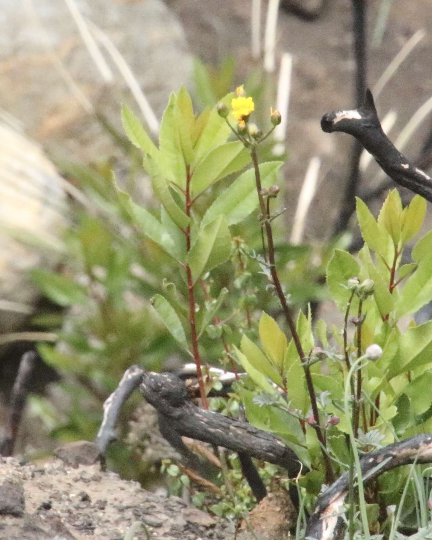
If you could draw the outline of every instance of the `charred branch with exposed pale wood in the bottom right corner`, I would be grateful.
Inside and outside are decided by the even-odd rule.
[[[414,462],[432,462],[432,434],[417,435],[402,442],[390,444],[376,452],[366,454],[360,461],[361,473],[363,478],[369,474],[365,482],[367,483],[386,471]],[[348,495],[348,489],[349,471],[330,485],[318,498],[314,513],[307,523],[306,537],[316,538],[317,540],[323,540],[324,538],[332,540],[338,535],[343,527],[343,519],[340,514],[343,512],[343,504]]]

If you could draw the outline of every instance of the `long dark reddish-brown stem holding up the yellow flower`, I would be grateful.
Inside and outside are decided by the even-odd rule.
[[[327,482],[333,483],[334,473],[333,473],[333,468],[332,468],[332,462],[330,461],[330,458],[328,457],[328,455],[326,454],[324,450],[326,447],[326,444],[325,444],[325,440],[324,440],[321,426],[320,426],[320,415],[318,412],[318,404],[316,403],[316,395],[315,395],[315,389],[314,389],[314,385],[312,381],[311,371],[309,369],[309,366],[306,365],[305,363],[305,353],[303,352],[299,334],[295,328],[294,318],[291,313],[291,310],[288,307],[284,291],[279,281],[278,273],[276,272],[275,259],[274,259],[273,231],[272,231],[272,226],[270,222],[270,216],[269,216],[269,213],[267,212],[264,197],[262,196],[262,192],[261,192],[261,189],[262,189],[261,176],[260,176],[260,169],[259,169],[259,164],[258,164],[257,149],[255,146],[252,146],[251,148],[251,157],[252,157],[252,162],[255,169],[255,181],[257,183],[257,192],[258,192],[258,199],[259,199],[261,215],[262,215],[262,223],[264,223],[266,236],[267,236],[268,261],[269,261],[270,273],[272,275],[273,285],[274,285],[276,294],[278,295],[279,301],[281,303],[282,310],[284,311],[285,319],[287,321],[288,328],[294,340],[295,348],[297,349],[297,353],[300,357],[300,361],[302,363],[303,369],[305,370],[306,384],[307,384],[307,389],[309,392],[309,397],[311,398],[312,412],[313,412],[313,416],[315,420],[314,428],[316,431],[316,436],[318,437],[318,440],[321,443],[322,457],[325,462],[326,471],[327,471]]]

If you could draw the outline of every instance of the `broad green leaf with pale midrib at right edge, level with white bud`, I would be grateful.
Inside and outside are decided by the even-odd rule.
[[[399,337],[399,365],[392,365],[393,376],[432,361],[432,321],[408,328]]]

